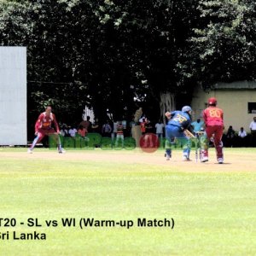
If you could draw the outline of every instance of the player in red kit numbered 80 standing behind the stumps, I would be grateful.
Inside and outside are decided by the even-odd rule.
[[[217,99],[211,97],[208,99],[208,108],[203,111],[203,119],[206,125],[207,139],[201,145],[201,161],[207,162],[208,160],[208,143],[213,138],[214,147],[216,148],[217,160],[219,164],[223,164],[223,143],[221,141],[224,130],[223,110],[217,106]]]

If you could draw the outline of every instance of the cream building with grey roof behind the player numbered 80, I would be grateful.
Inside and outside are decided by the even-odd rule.
[[[225,131],[232,125],[235,131],[242,126],[250,132],[249,125],[256,116],[256,81],[218,83],[207,91],[198,85],[191,102],[193,119],[201,117],[202,110],[207,107],[207,99],[213,96],[218,99],[218,107],[224,110]]]

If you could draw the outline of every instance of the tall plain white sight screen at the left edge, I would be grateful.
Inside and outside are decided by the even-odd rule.
[[[0,47],[0,145],[26,145],[26,47]]]

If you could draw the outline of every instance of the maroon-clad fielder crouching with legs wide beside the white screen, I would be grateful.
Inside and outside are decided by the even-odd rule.
[[[55,129],[51,126],[52,123],[55,125]],[[64,153],[65,152],[64,149],[61,148],[61,139],[59,137],[59,133],[60,133],[60,128],[55,119],[55,114],[51,113],[51,107],[47,106],[45,108],[45,112],[40,113],[40,115],[38,116],[38,120],[35,125],[36,137],[31,145],[31,147],[28,148],[27,152],[32,153],[32,149],[46,135],[46,136],[52,136],[55,139],[55,141],[57,142],[59,153]]]

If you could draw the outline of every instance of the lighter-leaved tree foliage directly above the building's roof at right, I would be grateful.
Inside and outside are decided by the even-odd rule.
[[[216,81],[255,79],[256,13],[253,1],[200,1],[201,26],[195,28],[198,71]]]

